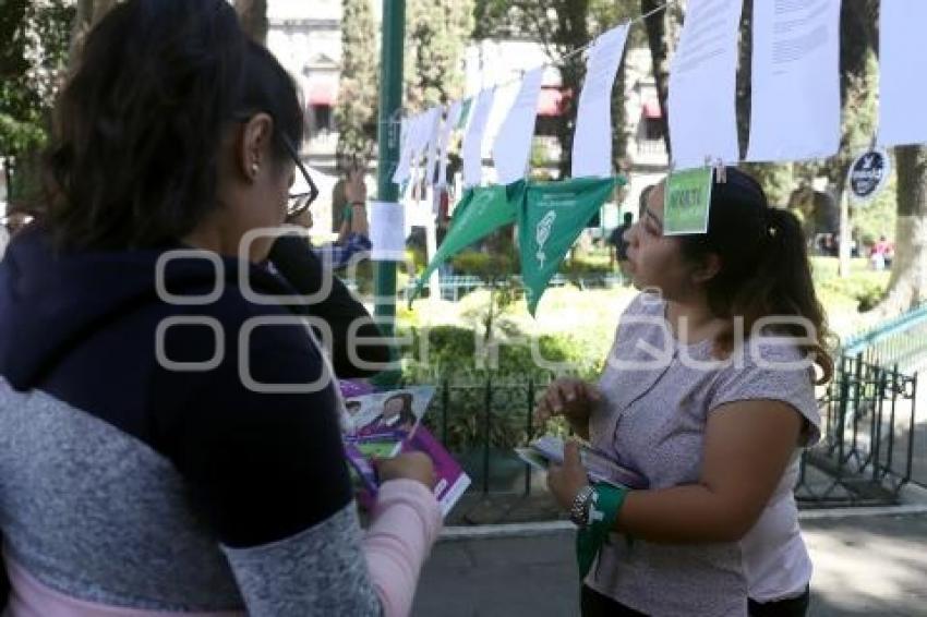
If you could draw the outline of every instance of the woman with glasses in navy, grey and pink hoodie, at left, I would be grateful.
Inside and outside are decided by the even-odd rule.
[[[302,110],[222,0],[128,0],[57,108],[0,263],[5,615],[405,615],[431,461],[358,524],[344,402],[266,258]],[[302,172],[302,169],[300,170]]]

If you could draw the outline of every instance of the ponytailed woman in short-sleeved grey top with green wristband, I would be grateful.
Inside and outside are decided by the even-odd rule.
[[[559,379],[564,415],[641,472],[590,485],[575,444],[549,474],[580,528],[583,616],[804,615],[811,564],[792,488],[831,377],[800,226],[759,184],[715,179],[707,233],[663,233],[663,185],[627,232],[635,286],[598,384]]]

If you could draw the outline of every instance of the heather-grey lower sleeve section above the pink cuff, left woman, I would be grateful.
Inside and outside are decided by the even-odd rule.
[[[251,617],[373,617],[371,584],[353,501],[317,525],[251,548],[222,547]]]

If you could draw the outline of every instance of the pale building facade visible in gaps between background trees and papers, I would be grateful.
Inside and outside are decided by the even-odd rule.
[[[378,21],[381,4],[371,0]],[[322,173],[334,174],[338,128],[334,109],[338,99],[341,64],[341,0],[268,0],[267,47],[297,80],[305,101],[308,162]],[[545,64],[543,46],[532,40],[480,40],[465,53],[467,95],[493,85],[511,83],[526,70]],[[640,191],[655,182],[667,169],[669,157],[662,134],[661,109],[657,97],[650,52],[647,48],[628,49],[625,55],[624,130],[630,185],[624,194],[627,209],[636,209]],[[538,107],[537,143],[545,153],[545,167],[552,172],[559,160],[555,121],[562,113],[563,98],[573,96],[561,87],[556,69],[544,72]],[[487,136],[502,123],[496,113],[490,119]],[[491,140],[486,140],[487,143]],[[484,166],[492,177],[489,147],[484,148]],[[323,178],[323,183],[334,180]],[[325,190],[323,189],[323,196]],[[324,198],[324,197],[323,197]],[[631,207],[634,205],[634,207]],[[323,209],[323,208],[320,208]],[[617,225],[616,208],[605,211],[604,226]]]

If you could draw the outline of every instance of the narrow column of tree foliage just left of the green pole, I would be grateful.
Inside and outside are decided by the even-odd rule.
[[[370,2],[344,2],[341,81],[335,107],[339,160],[352,155],[368,159],[376,144],[380,48]]]

